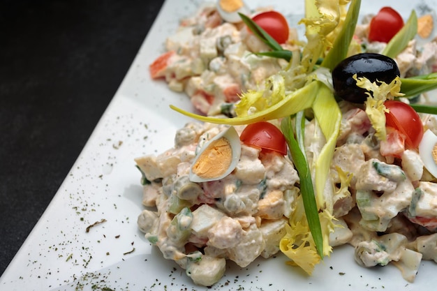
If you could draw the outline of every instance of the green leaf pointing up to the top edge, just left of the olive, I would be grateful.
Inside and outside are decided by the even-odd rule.
[[[353,38],[358,15],[360,15],[360,6],[361,0],[351,1],[343,27],[341,27],[339,35],[336,36],[332,49],[329,50],[323,60],[322,66],[325,68],[332,70],[340,61],[347,57],[350,40]]]

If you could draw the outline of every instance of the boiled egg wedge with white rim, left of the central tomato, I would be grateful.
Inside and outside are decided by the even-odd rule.
[[[223,130],[200,148],[190,168],[193,182],[207,182],[228,176],[239,161],[242,144],[234,127]]]

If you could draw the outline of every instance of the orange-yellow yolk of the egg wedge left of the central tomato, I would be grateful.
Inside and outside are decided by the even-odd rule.
[[[225,137],[214,140],[202,151],[192,167],[194,174],[204,179],[219,177],[228,170],[232,162],[232,149]]]

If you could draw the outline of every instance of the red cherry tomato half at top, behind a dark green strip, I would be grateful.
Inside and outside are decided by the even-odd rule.
[[[252,17],[253,22],[258,24],[265,32],[269,33],[279,44],[288,40],[288,22],[286,17],[274,10],[265,11]]]

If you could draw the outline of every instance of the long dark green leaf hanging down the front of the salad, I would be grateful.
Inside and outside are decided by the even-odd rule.
[[[299,133],[303,134],[302,122],[296,121],[296,127],[301,127]],[[311,179],[311,171],[309,169],[308,161],[306,161],[304,155],[304,149],[299,147],[299,142],[295,138],[295,130],[292,128],[292,120],[290,117],[286,117],[281,121],[281,130],[286,137],[288,147],[290,147],[290,154],[292,161],[295,164],[296,170],[299,173],[300,178],[300,192],[302,195],[302,201],[304,202],[304,209],[306,220],[308,221],[309,230],[313,236],[314,243],[316,244],[318,255],[323,258],[323,234],[322,227],[320,226],[320,218],[318,217],[318,208],[316,203],[316,197],[314,195],[313,181]],[[303,136],[298,137],[302,139]]]

